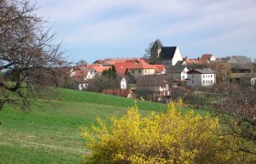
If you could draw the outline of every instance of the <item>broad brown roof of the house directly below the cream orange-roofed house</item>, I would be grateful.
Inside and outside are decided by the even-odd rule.
[[[137,86],[165,86],[168,85],[168,77],[165,75],[145,75],[140,77]]]

